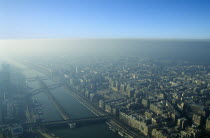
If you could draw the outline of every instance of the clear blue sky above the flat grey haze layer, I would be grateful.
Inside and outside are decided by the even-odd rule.
[[[0,0],[0,39],[210,38],[210,0]]]

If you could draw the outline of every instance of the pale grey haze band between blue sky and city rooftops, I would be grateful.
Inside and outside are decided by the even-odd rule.
[[[210,40],[34,39],[0,40],[8,56],[143,56],[209,62]]]

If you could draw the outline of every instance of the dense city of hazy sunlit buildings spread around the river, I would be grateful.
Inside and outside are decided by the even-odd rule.
[[[2,135],[56,137],[48,129],[47,123],[50,123],[43,119],[45,112],[39,106],[40,101],[29,98],[37,93],[48,95],[54,103],[53,107],[66,120],[59,127],[66,123],[72,129],[83,123],[91,125],[91,121],[69,123],[71,116],[56,101],[55,95],[47,90],[64,87],[94,116],[100,117],[95,118],[94,123],[106,121],[110,131],[123,137],[209,136],[209,65],[139,57],[78,58],[63,64],[62,61],[66,61],[64,58],[39,62],[31,60],[21,64],[9,61],[14,67],[2,65]],[[21,70],[24,72],[26,66],[23,65],[40,74],[24,77]],[[44,75],[40,76],[41,73]],[[31,90],[28,85],[36,80],[42,84],[46,79],[57,83],[38,91]],[[17,84],[12,80],[16,80]],[[15,93],[11,93],[9,88],[15,89]],[[44,125],[45,129],[42,128]]]

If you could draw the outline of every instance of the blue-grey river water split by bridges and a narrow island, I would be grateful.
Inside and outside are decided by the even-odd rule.
[[[24,70],[23,71],[26,78],[35,77],[37,75],[44,76],[43,74],[36,72],[34,70]],[[44,80],[47,85],[55,84],[52,80]],[[28,82],[28,86],[32,89],[38,89],[39,85],[36,81]],[[83,118],[95,116],[90,110],[79,103],[75,98],[73,98],[63,87],[58,87],[51,89],[50,92],[54,95],[58,103],[64,108],[64,110],[69,114],[70,118]],[[36,99],[40,102],[41,108],[43,110],[43,118],[46,121],[60,120],[62,117],[55,108],[53,102],[44,93],[39,93],[34,95],[32,99]],[[53,128],[52,133],[61,138],[120,138],[117,133],[109,130],[108,125],[93,124],[88,126],[71,128]]]

